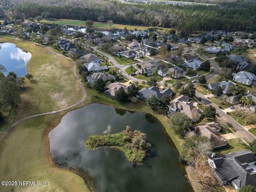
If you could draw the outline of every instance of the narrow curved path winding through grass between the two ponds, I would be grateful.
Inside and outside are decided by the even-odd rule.
[[[70,58],[69,58],[70,59]],[[71,59],[70,59],[71,60]],[[73,61],[72,61],[73,62]],[[74,64],[74,71],[76,72],[76,75],[78,76],[78,73],[76,71],[76,64],[73,62]],[[80,80],[79,76],[78,76],[78,80]],[[58,113],[58,112],[61,112],[61,111],[64,111],[64,110],[67,110],[67,109],[70,109],[74,106],[77,106],[78,104],[80,104],[81,102],[83,102],[86,98],[86,91],[85,91],[85,88],[84,88],[84,85],[82,82],[80,82],[80,85],[82,87],[82,90],[84,92],[84,96],[83,98],[78,101],[77,103],[73,104],[73,105],[70,105],[68,107],[65,107],[65,108],[62,108],[62,109],[59,109],[59,110],[54,110],[54,111],[50,111],[50,112],[45,112],[45,113],[40,113],[40,114],[35,114],[35,115],[31,115],[31,116],[27,116],[27,117],[24,117],[20,120],[18,120],[17,122],[15,122],[14,124],[12,124],[10,127],[8,127],[1,135],[0,135],[0,140],[2,140],[2,138],[4,138],[4,136],[14,127],[16,126],[17,124],[19,124],[20,122],[26,120],[26,119],[30,119],[30,118],[33,118],[33,117],[37,117],[37,116],[42,116],[42,115],[48,115],[48,114],[54,114],[54,113]]]

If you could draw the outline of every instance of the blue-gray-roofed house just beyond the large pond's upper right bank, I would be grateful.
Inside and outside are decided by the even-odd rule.
[[[142,90],[138,92],[137,97],[146,101],[147,98],[151,97],[152,95],[155,95],[158,99],[161,99],[164,94],[171,96],[172,93],[173,91],[170,88],[164,89],[162,92],[160,92],[156,86],[153,86],[150,88],[142,88]]]

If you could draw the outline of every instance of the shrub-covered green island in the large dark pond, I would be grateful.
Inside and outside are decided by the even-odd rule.
[[[136,165],[143,164],[146,158],[150,143],[146,142],[146,134],[134,130],[130,126],[126,126],[126,130],[120,133],[110,134],[111,126],[108,126],[104,134],[107,135],[91,135],[85,142],[86,148],[89,150],[98,147],[117,148],[124,152],[126,158]]]

